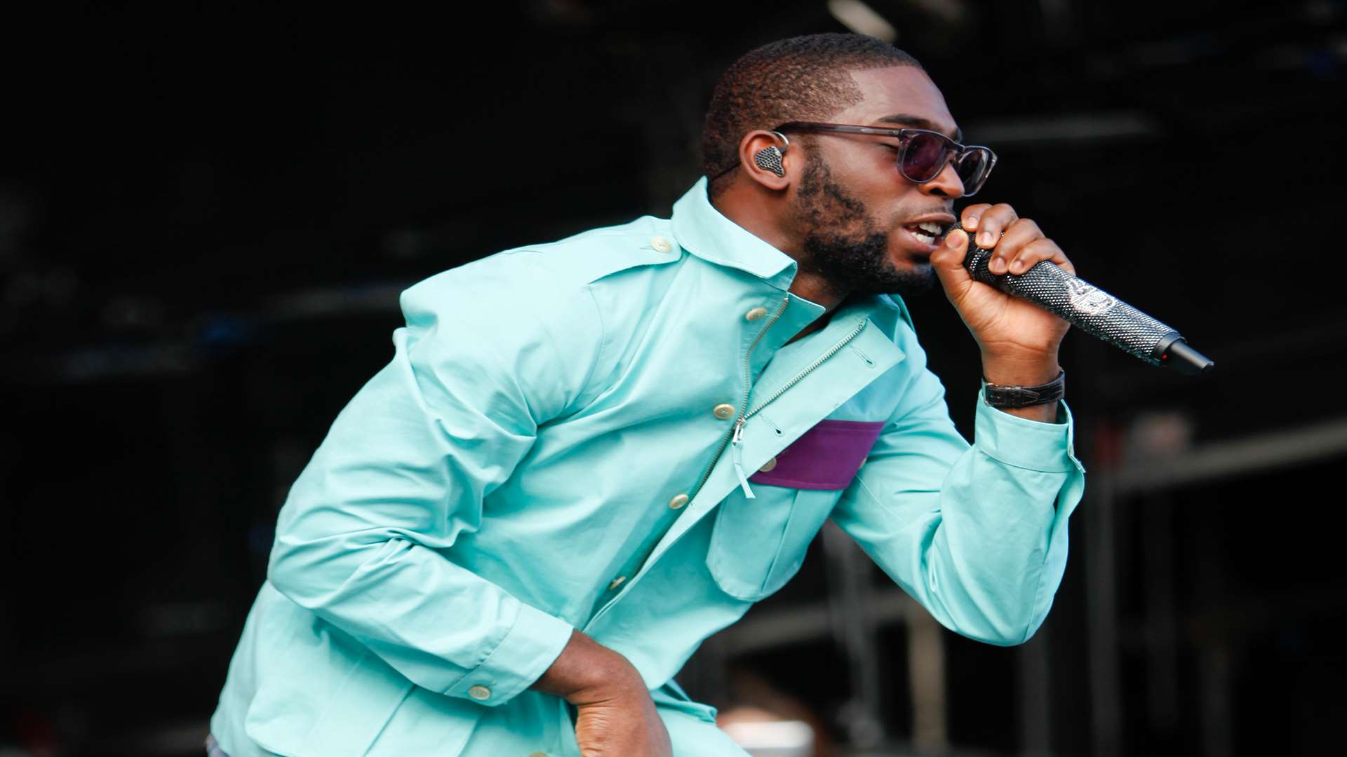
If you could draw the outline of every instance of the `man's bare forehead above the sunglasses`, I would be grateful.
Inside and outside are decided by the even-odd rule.
[[[917,127],[959,139],[958,124],[931,77],[916,66],[850,71],[861,101],[834,116],[838,123]]]

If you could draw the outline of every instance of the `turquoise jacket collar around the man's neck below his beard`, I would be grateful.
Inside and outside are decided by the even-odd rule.
[[[746,271],[773,287],[789,290],[797,268],[795,259],[726,218],[711,205],[706,187],[707,179],[702,176],[674,203],[678,244],[703,260]],[[882,310],[902,314],[905,308],[894,298],[897,295],[851,295],[847,300],[873,314]]]

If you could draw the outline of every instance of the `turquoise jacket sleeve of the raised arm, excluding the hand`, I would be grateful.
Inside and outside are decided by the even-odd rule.
[[[911,378],[832,520],[946,628],[1022,644],[1052,606],[1084,493],[1071,411],[1028,420],[979,389],[968,445],[915,337],[902,349]]]

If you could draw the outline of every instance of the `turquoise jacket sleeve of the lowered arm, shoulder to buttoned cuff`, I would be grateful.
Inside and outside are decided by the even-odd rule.
[[[586,287],[547,280],[537,259],[501,253],[403,292],[393,358],[292,486],[267,572],[418,686],[486,706],[528,688],[572,630],[453,559],[539,424],[582,399],[602,342]]]

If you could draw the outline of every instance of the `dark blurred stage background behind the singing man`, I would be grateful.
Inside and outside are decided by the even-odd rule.
[[[199,754],[275,515],[397,292],[668,217],[764,42],[892,35],[1098,286],[1216,361],[1072,333],[1087,492],[1028,644],[939,626],[826,529],[680,680],[815,754],[1342,741],[1347,4],[106,3],[0,22],[0,754]],[[1325,244],[1327,242],[1327,244]],[[977,348],[909,303],[971,438]]]

